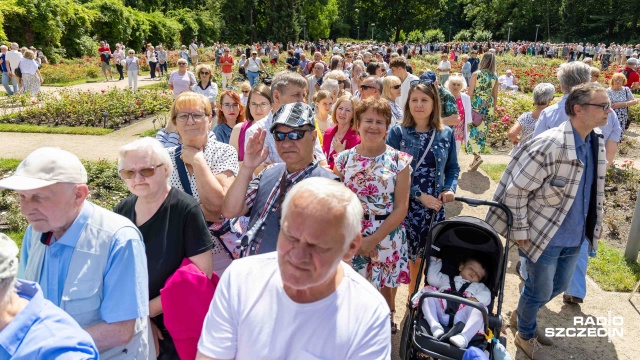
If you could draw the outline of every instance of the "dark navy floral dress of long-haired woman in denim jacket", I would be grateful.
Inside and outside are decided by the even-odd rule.
[[[435,136],[433,131],[420,133],[420,148],[422,150],[418,159],[422,158],[424,150],[427,148],[427,144],[429,144],[429,141],[431,140],[431,136]],[[436,171],[436,157],[433,154],[433,150],[429,150],[429,153],[425,156],[422,164],[414,170],[411,179],[412,184],[417,185],[422,193],[433,197],[438,197],[438,195],[440,195],[436,194],[438,175]],[[432,216],[434,216],[433,211],[427,209],[418,199],[409,199],[409,211],[405,218],[405,225],[409,241],[409,257],[413,261],[420,257],[424,251]],[[435,217],[436,218],[433,220],[434,225],[444,220],[444,206],[435,214]]]

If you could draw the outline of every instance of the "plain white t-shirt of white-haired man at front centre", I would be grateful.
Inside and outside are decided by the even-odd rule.
[[[216,288],[198,351],[237,360],[391,359],[384,298],[350,266],[339,266],[344,278],[334,293],[299,304],[283,289],[276,252],[232,262]]]

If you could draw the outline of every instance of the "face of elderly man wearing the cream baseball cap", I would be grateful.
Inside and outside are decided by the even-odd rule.
[[[37,232],[57,231],[71,225],[75,209],[84,197],[78,197],[78,187],[58,183],[35,190],[17,191],[20,197],[20,213]]]

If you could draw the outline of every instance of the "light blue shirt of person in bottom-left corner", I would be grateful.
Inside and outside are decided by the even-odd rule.
[[[29,304],[0,332],[0,360],[98,359],[91,336],[46,300],[38,284],[18,280],[16,290]]]

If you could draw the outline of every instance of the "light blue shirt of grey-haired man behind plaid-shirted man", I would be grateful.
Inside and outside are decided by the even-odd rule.
[[[567,102],[568,94],[564,95],[557,104],[551,105],[548,108],[542,110],[538,121],[536,122],[536,130],[533,132],[534,138],[543,132],[560,126],[565,121],[569,121],[569,115],[565,111],[565,103]],[[604,136],[604,142],[615,141],[620,142],[622,140],[622,128],[620,127],[620,121],[615,111],[611,111],[607,117],[607,125],[599,128],[602,130]]]

